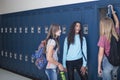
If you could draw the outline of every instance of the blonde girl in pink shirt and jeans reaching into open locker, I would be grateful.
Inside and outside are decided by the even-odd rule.
[[[118,17],[111,6],[112,15],[115,21],[111,18],[105,17],[100,20],[100,38],[98,41],[99,52],[98,52],[98,75],[102,76],[102,80],[113,80],[111,71],[116,71],[118,66],[113,66],[107,59],[110,53],[110,42],[111,36],[113,35],[118,41],[119,34],[119,21]]]

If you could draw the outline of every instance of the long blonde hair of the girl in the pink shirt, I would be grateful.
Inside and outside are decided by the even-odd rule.
[[[115,25],[111,18],[105,17],[100,20],[100,36],[102,35],[105,35],[108,41],[111,41],[112,35],[118,40]]]

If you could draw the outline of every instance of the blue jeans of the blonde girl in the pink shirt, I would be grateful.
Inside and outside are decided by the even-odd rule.
[[[103,80],[112,80],[112,73],[116,73],[118,67],[115,67],[112,64],[110,64],[106,56],[104,56],[103,58],[102,67],[103,67],[102,72]]]

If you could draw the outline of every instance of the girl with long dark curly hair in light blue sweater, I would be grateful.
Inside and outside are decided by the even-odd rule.
[[[75,69],[81,80],[86,80],[83,75],[86,72],[87,61],[83,57],[82,51],[87,58],[86,39],[82,35],[81,23],[75,21],[70,27],[68,36],[65,38],[63,49],[63,66],[68,73],[68,80],[74,80]]]

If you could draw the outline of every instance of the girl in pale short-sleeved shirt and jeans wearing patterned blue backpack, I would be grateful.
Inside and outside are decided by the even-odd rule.
[[[57,53],[59,51],[59,41],[58,37],[61,35],[61,29],[58,24],[52,24],[50,26],[47,38],[46,38],[46,58],[47,58],[47,66],[46,66],[46,74],[48,76],[48,80],[57,80],[57,67],[60,71],[63,71],[64,68],[61,63],[58,62]]]

